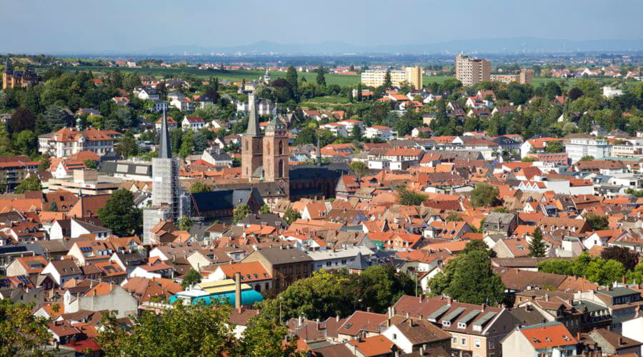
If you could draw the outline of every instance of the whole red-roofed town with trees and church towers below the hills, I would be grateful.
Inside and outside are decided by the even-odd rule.
[[[640,357],[642,58],[2,54],[0,355]]]

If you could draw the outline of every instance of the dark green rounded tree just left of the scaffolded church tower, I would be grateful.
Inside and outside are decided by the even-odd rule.
[[[99,219],[116,236],[131,236],[143,230],[141,210],[134,206],[134,196],[124,188],[114,191],[98,213]]]

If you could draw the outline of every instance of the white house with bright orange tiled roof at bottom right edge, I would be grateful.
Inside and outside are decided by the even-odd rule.
[[[516,326],[502,339],[504,356],[574,356],[577,340],[562,323]]]

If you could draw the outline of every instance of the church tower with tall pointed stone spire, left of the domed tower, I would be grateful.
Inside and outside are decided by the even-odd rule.
[[[261,178],[261,131],[259,130],[259,119],[256,116],[256,102],[254,91],[248,95],[250,119],[248,129],[241,138],[241,178]]]

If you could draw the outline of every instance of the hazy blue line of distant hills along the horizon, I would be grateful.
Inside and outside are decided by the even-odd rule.
[[[642,51],[643,39],[637,40],[584,40],[537,39],[529,37],[505,39],[469,39],[442,41],[428,44],[387,46],[357,46],[344,42],[321,42],[319,44],[279,44],[259,41],[244,46],[165,46],[141,51],[145,54],[445,54],[489,53],[514,54],[519,52],[569,52],[569,51]]]

